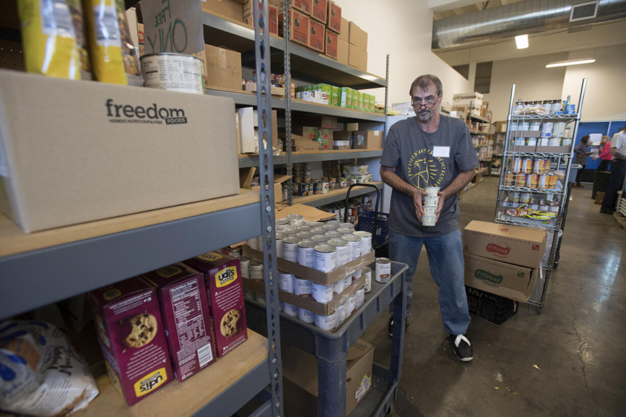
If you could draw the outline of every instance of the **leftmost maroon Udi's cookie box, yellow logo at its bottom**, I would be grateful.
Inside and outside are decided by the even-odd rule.
[[[106,372],[131,406],[173,381],[156,289],[135,277],[89,293]]]

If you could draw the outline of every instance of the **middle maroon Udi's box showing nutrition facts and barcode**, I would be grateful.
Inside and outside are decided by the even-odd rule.
[[[184,264],[141,275],[156,288],[174,376],[182,382],[215,362],[204,276]]]

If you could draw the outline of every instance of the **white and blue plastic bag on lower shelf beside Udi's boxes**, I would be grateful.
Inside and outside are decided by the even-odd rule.
[[[43,321],[0,322],[0,409],[61,416],[96,395],[87,364],[63,332]]]

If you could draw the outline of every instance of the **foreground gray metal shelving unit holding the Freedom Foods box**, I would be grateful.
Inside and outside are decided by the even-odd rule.
[[[266,30],[263,34],[260,32],[260,27],[268,27],[269,1],[260,0],[259,3],[262,5],[264,19],[260,21],[259,8],[254,8],[256,27],[255,30],[248,29],[247,34],[251,33],[254,41],[251,50],[254,50],[257,73],[269,74],[270,49],[266,47],[270,44],[269,31]],[[269,76],[265,80],[262,78],[262,83],[259,83],[255,102],[259,108],[259,133],[267,134],[271,143],[272,118],[267,118],[268,122],[264,125],[262,117],[271,111],[272,105],[270,97],[264,96],[263,91],[270,91]],[[265,183],[272,184],[274,168],[271,147],[260,147],[259,167]],[[207,204],[216,203],[219,206],[228,198],[209,200]],[[153,412],[145,413],[151,415],[165,406],[180,411],[180,417],[191,414],[231,415],[255,397],[262,399],[262,405],[254,412],[254,416],[283,415],[278,319],[280,305],[278,299],[272,296],[278,294],[278,273],[275,263],[270,261],[275,259],[276,254],[273,228],[274,187],[262,187],[260,197],[256,194],[252,201],[243,205],[235,203],[225,209],[220,207],[215,210],[203,206],[198,209],[197,206],[198,203],[192,203],[153,210],[147,214],[154,219],[168,220],[146,220],[142,218],[146,214],[128,215],[29,235],[24,235],[10,220],[0,216],[0,277],[3,288],[0,291],[0,318],[60,301],[208,250],[259,235],[267,237],[264,239],[267,242],[264,250],[267,319],[263,324],[268,334],[267,339],[251,334],[249,341],[228,356],[218,359],[217,363],[203,371],[205,374],[199,373],[195,376],[198,383],[202,376],[208,378],[202,386],[215,387],[218,386],[216,381],[220,380],[220,376],[212,375],[212,370],[215,372],[215,369],[225,366],[239,368],[237,374],[241,374],[240,378],[223,391],[207,396],[193,390],[190,393],[187,387],[191,388],[192,385],[173,382],[163,388],[163,392],[150,396],[133,408],[126,406],[121,395],[109,383],[111,389],[104,389],[97,398],[103,404],[103,412],[96,411],[98,415],[131,416],[135,412],[143,415],[139,410],[144,408],[152,410]],[[13,244],[18,247],[14,248]],[[30,249],[22,250],[22,247]],[[239,358],[245,351],[246,343],[250,343],[251,347],[254,345],[252,349],[257,353],[254,357],[260,357],[259,361],[252,360],[250,363],[253,355],[249,353],[245,353],[248,358]],[[230,369],[222,372],[230,372]],[[103,378],[108,381],[107,376]],[[171,395],[165,394],[165,391]],[[111,396],[107,397],[105,392],[111,393]],[[206,403],[202,403],[204,398],[207,398]],[[120,408],[116,409],[115,404],[121,404]],[[95,408],[95,405],[90,404],[80,413],[93,415],[90,413]]]

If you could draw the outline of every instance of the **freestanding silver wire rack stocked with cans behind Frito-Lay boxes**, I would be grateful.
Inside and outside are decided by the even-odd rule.
[[[573,123],[572,139],[576,138],[578,131],[578,123],[582,116],[582,105],[585,98],[585,90],[587,88],[587,78],[583,78],[582,85],[580,86],[580,98],[578,99],[578,113],[574,115],[560,115],[560,114],[548,114],[548,115],[526,115],[524,113],[515,113],[513,111],[513,102],[515,100],[515,84],[511,86],[511,100],[509,103],[509,112],[506,126],[506,136],[504,143],[503,162],[500,172],[500,186],[498,187],[498,199],[496,203],[495,222],[502,224],[511,224],[524,227],[538,227],[541,229],[551,230],[553,234],[552,244],[549,247],[550,257],[547,264],[541,265],[541,279],[537,281],[533,295],[530,297],[528,304],[538,307],[538,312],[543,312],[545,307],[546,292],[548,291],[548,282],[550,281],[550,274],[552,270],[557,267],[558,264],[558,232],[563,229],[565,225],[565,216],[567,215],[567,202],[570,195],[570,168],[573,161],[573,148],[574,140],[572,144],[567,148],[560,147],[556,149],[556,152],[541,152],[528,150],[527,147],[521,145],[514,145],[515,138],[520,137],[521,133],[511,130],[511,122],[516,123],[524,122],[541,122],[541,123],[553,123],[563,122],[567,124]],[[539,139],[537,140],[539,142]],[[562,152],[558,152],[562,151]],[[530,188],[524,187],[521,184],[506,185],[506,172],[513,171],[515,167],[515,160],[521,160],[523,158],[544,158],[551,161],[552,171],[564,171],[565,175],[561,183],[561,187],[557,189],[544,189],[544,188]],[[520,164],[521,166],[521,164]],[[525,184],[524,184],[525,185]],[[525,217],[518,217],[509,213],[508,207],[505,207],[505,198],[508,196],[514,196],[513,193],[543,193],[546,195],[546,200],[558,201],[558,212],[553,219],[542,222],[541,220],[527,219]],[[507,200],[506,205],[516,203],[515,200]],[[515,208],[515,207],[513,207]]]

